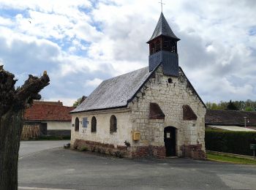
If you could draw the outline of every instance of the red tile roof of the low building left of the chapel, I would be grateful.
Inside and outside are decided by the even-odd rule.
[[[63,106],[61,102],[34,102],[26,109],[25,121],[71,121],[69,112],[74,107]]]

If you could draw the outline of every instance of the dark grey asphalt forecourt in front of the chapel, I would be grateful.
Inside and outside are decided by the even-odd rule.
[[[191,159],[116,159],[48,149],[19,160],[19,189],[256,189],[256,167]]]

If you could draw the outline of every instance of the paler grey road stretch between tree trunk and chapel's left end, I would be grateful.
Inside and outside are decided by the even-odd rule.
[[[36,140],[36,141],[21,141],[19,157],[28,156],[33,153],[45,151],[52,148],[63,147],[69,140]]]

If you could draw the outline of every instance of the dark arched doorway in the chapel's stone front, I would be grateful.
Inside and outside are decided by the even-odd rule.
[[[165,127],[165,149],[166,156],[176,156],[176,128]]]

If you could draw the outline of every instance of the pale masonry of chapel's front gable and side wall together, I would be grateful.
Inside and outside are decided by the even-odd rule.
[[[170,80],[171,79],[171,80]],[[171,83],[168,83],[168,81]],[[150,104],[159,105],[165,117],[150,118]],[[189,105],[195,120],[184,120],[183,106]],[[87,118],[86,128],[80,124],[79,132],[71,130],[71,143],[78,140],[99,142],[124,147],[129,142],[127,157],[165,158],[164,129],[173,126],[176,129],[176,156],[192,159],[205,159],[205,114],[206,107],[195,91],[189,86],[183,72],[179,77],[164,75],[162,66],[155,71],[127,107],[111,110],[97,110],[84,113],[72,113],[82,121]],[[110,117],[116,115],[117,132],[110,134]],[[91,118],[97,119],[97,132],[91,132]],[[132,132],[140,132],[140,140],[132,140]]]

